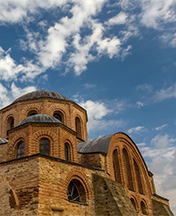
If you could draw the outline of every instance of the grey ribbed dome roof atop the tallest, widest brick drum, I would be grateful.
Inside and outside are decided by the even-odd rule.
[[[34,100],[34,99],[40,99],[40,98],[52,98],[56,100],[66,100],[70,101],[67,97],[64,95],[50,91],[50,90],[38,90],[38,91],[33,91],[30,93],[27,93],[19,98],[17,98],[13,103],[19,102],[19,101],[26,101],[26,100]]]

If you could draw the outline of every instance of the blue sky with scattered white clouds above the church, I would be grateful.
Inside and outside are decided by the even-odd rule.
[[[127,133],[176,214],[176,0],[0,0],[0,108],[39,89]]]

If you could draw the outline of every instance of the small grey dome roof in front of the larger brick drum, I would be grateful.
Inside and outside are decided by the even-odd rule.
[[[54,123],[54,124],[63,124],[58,119],[45,114],[36,114],[25,118],[22,122],[19,123],[18,126],[21,126],[26,123]]]

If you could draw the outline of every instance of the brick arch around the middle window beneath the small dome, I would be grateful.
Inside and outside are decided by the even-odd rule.
[[[57,143],[57,135],[47,129],[42,129],[34,133],[32,146],[35,146],[35,153],[39,153],[39,141],[42,138],[47,138],[50,141],[50,155],[54,156],[54,143]]]

